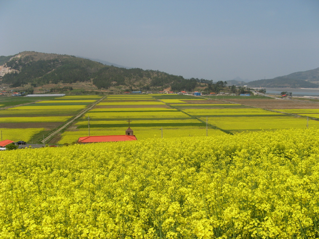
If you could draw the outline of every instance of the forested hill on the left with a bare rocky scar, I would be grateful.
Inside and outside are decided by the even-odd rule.
[[[155,70],[119,68],[70,55],[22,52],[14,57],[2,56],[4,67],[14,72],[1,80],[11,87],[32,83],[41,86],[48,83],[93,82],[99,89],[122,85],[130,90],[164,89],[192,91],[199,79],[184,79]]]

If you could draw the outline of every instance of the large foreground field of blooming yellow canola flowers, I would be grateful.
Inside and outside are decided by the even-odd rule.
[[[318,238],[318,135],[3,151],[0,237]]]

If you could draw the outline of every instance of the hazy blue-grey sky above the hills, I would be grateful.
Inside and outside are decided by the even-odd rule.
[[[185,78],[319,67],[318,0],[0,0],[0,55],[81,55]]]

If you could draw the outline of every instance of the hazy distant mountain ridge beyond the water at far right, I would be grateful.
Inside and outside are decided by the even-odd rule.
[[[278,76],[273,79],[251,81],[249,87],[269,88],[318,88],[319,68],[307,71],[294,72],[286,76]]]

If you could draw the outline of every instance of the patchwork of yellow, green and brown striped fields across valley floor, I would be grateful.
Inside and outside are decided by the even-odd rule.
[[[102,96],[65,96],[58,98],[7,99],[9,108],[0,111],[1,127],[34,129],[34,136],[47,134],[72,119]],[[26,100],[26,101],[24,101]],[[236,102],[234,102],[236,101]],[[240,102],[244,101],[242,105]],[[270,104],[276,108],[258,108],[254,105]],[[0,101],[0,104],[2,101]],[[15,102],[15,103],[14,103]],[[24,104],[21,104],[21,102]],[[251,104],[249,104],[249,102]],[[273,103],[272,103],[273,102]],[[214,136],[247,131],[276,130],[287,128],[319,127],[319,103],[293,101],[280,107],[278,102],[267,98],[228,97],[215,99],[177,94],[108,95],[91,110],[78,118],[51,143],[71,143],[87,136],[88,120],[90,135],[122,135],[129,127],[137,139],[174,138],[182,136]],[[285,101],[286,102],[286,101]],[[252,106],[250,106],[252,105]],[[303,107],[301,107],[303,106]],[[307,116],[310,117],[307,121]],[[207,130],[206,130],[207,123]],[[33,131],[30,131],[33,132]],[[27,136],[27,139],[33,139]],[[9,138],[10,139],[10,138]]]

